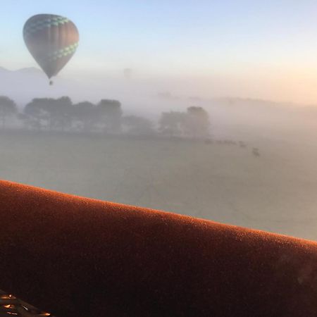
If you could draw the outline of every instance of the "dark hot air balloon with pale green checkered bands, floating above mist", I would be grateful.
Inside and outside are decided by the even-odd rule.
[[[42,68],[50,85],[51,77],[66,66],[79,42],[76,25],[60,15],[34,15],[23,27],[23,38],[30,54]]]

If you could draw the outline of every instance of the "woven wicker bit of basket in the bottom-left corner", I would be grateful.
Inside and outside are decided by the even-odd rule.
[[[36,317],[36,316],[52,316],[50,313],[41,311],[36,307],[27,304],[12,294],[8,294],[0,290],[0,317],[21,316],[21,317]]]

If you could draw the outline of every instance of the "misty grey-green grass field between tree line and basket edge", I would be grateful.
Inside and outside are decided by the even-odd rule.
[[[308,144],[2,132],[0,154],[1,179],[317,240]]]

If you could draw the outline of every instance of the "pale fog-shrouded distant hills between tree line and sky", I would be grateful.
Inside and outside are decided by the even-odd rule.
[[[66,72],[66,74],[68,74]],[[155,84],[143,81],[137,82],[119,80],[109,77],[93,78],[79,76],[71,79],[58,75],[54,78],[54,86],[49,86],[49,80],[39,68],[21,68],[8,70],[0,66],[0,95],[14,99],[19,106],[24,106],[35,97],[58,98],[69,96],[73,101],[89,100],[97,102],[102,98],[118,99],[123,103],[126,111],[136,112],[144,116],[153,114],[158,116],[162,111],[183,111],[187,106],[203,106],[206,110],[221,116],[264,116],[266,113],[303,112],[307,116],[316,116],[317,106],[303,106],[292,103],[282,103],[263,99],[240,97],[178,97],[173,92],[159,92],[151,95]],[[185,92],[186,93],[186,92]]]

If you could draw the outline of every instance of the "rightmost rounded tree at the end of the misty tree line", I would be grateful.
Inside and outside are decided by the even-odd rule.
[[[204,108],[191,106],[187,108],[185,120],[185,135],[195,139],[209,137],[209,114]]]

